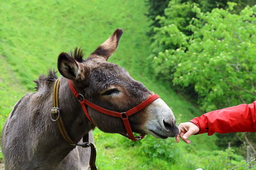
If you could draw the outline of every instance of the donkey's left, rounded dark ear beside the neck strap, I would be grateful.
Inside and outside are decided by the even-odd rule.
[[[61,75],[70,80],[77,80],[80,73],[77,62],[64,52],[58,57],[58,70]]]

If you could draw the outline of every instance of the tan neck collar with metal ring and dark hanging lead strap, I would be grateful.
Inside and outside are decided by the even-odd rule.
[[[61,136],[65,141],[69,143],[71,146],[81,146],[83,148],[91,148],[91,155],[90,155],[90,168],[92,170],[97,170],[95,166],[96,160],[96,148],[93,143],[89,143],[89,134],[83,136],[83,144],[78,144],[70,138],[67,129],[65,128],[64,122],[60,115],[60,108],[59,108],[59,89],[60,89],[60,78],[58,78],[54,83],[53,93],[52,93],[52,109],[51,109],[51,120],[57,122],[58,129],[60,130]]]

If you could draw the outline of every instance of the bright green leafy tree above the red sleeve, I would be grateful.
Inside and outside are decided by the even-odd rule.
[[[158,52],[153,60],[156,72],[174,85],[195,87],[198,103],[206,111],[251,103],[256,95],[256,7],[234,14],[234,3],[228,5],[227,10],[203,13],[197,4],[177,4],[187,9],[184,15],[196,13],[186,27],[193,34],[183,34],[175,23],[180,23],[180,18],[169,21],[173,12],[166,13],[160,18],[163,26],[156,28],[156,42],[152,44]]]

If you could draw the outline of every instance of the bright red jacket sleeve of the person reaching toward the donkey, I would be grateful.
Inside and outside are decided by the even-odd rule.
[[[198,134],[256,132],[256,101],[252,104],[240,104],[211,111],[201,117],[193,118],[190,122],[199,127]]]

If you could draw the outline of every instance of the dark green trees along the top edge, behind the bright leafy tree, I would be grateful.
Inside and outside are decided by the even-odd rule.
[[[246,5],[253,6],[256,4],[253,0],[230,0],[231,2],[237,3],[234,9],[234,13],[239,13]],[[154,35],[154,27],[161,27],[161,22],[157,19],[157,17],[163,17],[164,14],[168,17],[172,17],[172,21],[178,22],[178,18],[180,18],[179,25],[182,24],[182,27],[179,27],[181,31],[184,31],[186,34],[191,34],[189,30],[186,29],[186,26],[189,25],[189,21],[191,18],[195,17],[195,13],[191,12],[190,8],[186,8],[186,6],[180,6],[180,3],[191,5],[193,3],[197,3],[203,12],[211,11],[214,8],[227,8],[228,0],[145,0],[148,6],[148,12],[146,13],[147,17],[152,22],[150,32],[148,32],[149,36]],[[169,3],[170,2],[170,3]],[[166,8],[166,7],[169,8]],[[183,10],[189,10],[183,11]],[[172,13],[174,15],[168,15],[167,13]],[[178,14],[178,15],[177,15]],[[169,20],[171,21],[171,20]]]

